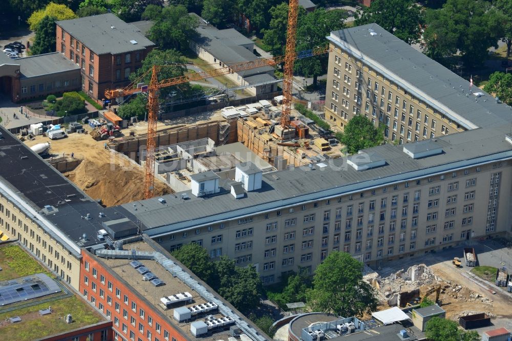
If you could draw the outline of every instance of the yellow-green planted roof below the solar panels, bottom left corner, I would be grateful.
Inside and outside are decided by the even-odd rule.
[[[52,307],[53,313],[39,315],[38,311],[48,306]],[[65,322],[64,317],[67,314],[72,315],[73,323]],[[1,338],[4,340],[29,341],[92,325],[103,319],[92,307],[76,296],[3,313],[0,314],[0,321],[13,316],[21,317],[22,321],[0,328]]]

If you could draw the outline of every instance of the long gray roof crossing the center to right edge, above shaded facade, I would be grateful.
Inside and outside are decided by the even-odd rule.
[[[262,188],[247,193],[245,198],[239,200],[234,200],[229,195],[230,188],[221,188],[218,195],[201,198],[187,191],[190,199],[186,201],[181,200],[179,195],[164,196],[166,207],[162,207],[156,198],[144,200],[143,206],[138,207],[138,210],[134,210],[132,204],[124,204],[122,207],[136,216],[146,228],[153,228],[146,230],[148,235],[158,236],[180,229],[246,217],[273,210],[275,207],[292,207],[394,182],[448,173],[457,167],[512,158],[512,145],[505,140],[507,132],[507,127],[503,127],[501,131],[477,129],[439,137],[437,143],[446,152],[421,159],[412,159],[403,153],[401,145],[381,145],[368,152],[378,152],[386,159],[386,164],[366,171],[358,172],[347,166],[346,158],[339,158],[329,160],[328,167],[310,169],[304,166],[265,173]]]

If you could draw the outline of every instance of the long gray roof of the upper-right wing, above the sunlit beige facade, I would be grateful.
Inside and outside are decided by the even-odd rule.
[[[477,87],[470,94],[470,82],[377,24],[333,31],[327,39],[466,129],[512,121],[510,106]]]

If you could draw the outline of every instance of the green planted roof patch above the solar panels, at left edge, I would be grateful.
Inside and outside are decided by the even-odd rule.
[[[12,280],[35,273],[53,275],[43,268],[35,259],[18,245],[0,247],[0,281]]]

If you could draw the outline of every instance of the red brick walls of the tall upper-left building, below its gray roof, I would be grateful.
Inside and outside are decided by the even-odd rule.
[[[65,33],[65,38],[62,40],[62,34]],[[134,72],[136,69],[142,66],[142,60],[146,55],[153,49],[145,48],[130,53],[130,62],[125,62],[125,53],[120,54],[121,63],[117,65],[117,55],[110,53],[97,55],[94,51],[89,50],[85,47],[85,54],[82,55],[82,42],[77,41],[73,38],[73,47],[71,47],[71,38],[69,33],[62,30],[61,27],[57,26],[57,51],[62,52],[62,47],[65,50],[65,56],[70,58],[70,52],[73,51],[75,54],[74,61],[76,62],[76,53],[80,58],[79,65],[82,66],[82,59],[84,60],[84,69],[82,69],[82,78],[84,80],[82,90],[87,92],[93,99],[101,101],[104,98],[106,89],[114,89],[125,87],[130,84],[130,81],[124,78],[124,69],[130,68],[130,72]],[[63,46],[62,46],[63,44]],[[79,51],[76,50],[77,44],[79,45]],[[93,60],[91,60],[91,54],[93,54]],[[137,58],[138,54],[138,58]],[[89,75],[89,66],[92,65],[94,68],[93,76]],[[117,80],[116,70],[120,70],[121,79]],[[90,85],[92,84],[92,90]]]

